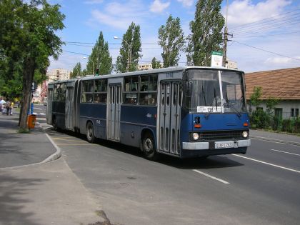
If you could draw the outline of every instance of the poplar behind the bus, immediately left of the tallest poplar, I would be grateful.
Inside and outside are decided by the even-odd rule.
[[[159,28],[159,45],[163,49],[161,56],[164,67],[177,66],[179,51],[184,48],[184,32],[180,26],[180,19],[174,19],[171,15],[166,21],[166,26]]]

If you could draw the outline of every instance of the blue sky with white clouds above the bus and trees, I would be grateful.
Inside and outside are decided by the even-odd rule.
[[[142,58],[162,61],[157,44],[158,31],[171,14],[179,17],[184,36],[190,34],[196,0],[49,0],[61,5],[66,16],[65,28],[57,35],[66,44],[59,59],[50,59],[50,69],[73,70],[76,63],[86,67],[87,58],[99,37],[109,43],[113,63],[119,55],[121,38],[133,21],[141,27]],[[228,0],[227,24],[229,43],[227,57],[245,72],[300,67],[300,0]],[[221,14],[226,17],[226,0]],[[86,59],[84,59],[86,57]],[[179,66],[186,64],[181,52]]]

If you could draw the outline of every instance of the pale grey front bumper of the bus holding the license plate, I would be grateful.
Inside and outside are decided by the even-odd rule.
[[[204,150],[204,149],[236,149],[251,145],[251,140],[238,141],[211,141],[211,142],[182,142],[182,149]]]

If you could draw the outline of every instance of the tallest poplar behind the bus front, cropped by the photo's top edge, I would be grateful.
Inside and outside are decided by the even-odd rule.
[[[186,49],[187,65],[210,66],[211,51],[221,51],[224,17],[221,14],[221,0],[199,0],[195,19],[191,21],[191,34]]]

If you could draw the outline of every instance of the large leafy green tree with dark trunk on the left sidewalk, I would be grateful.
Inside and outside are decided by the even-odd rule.
[[[46,0],[0,1],[0,49],[4,56],[21,64],[22,107],[20,129],[27,130],[27,110],[31,96],[31,84],[38,70],[46,74],[49,56],[57,59],[63,42],[55,31],[64,28],[64,14],[58,4],[51,6]]]

